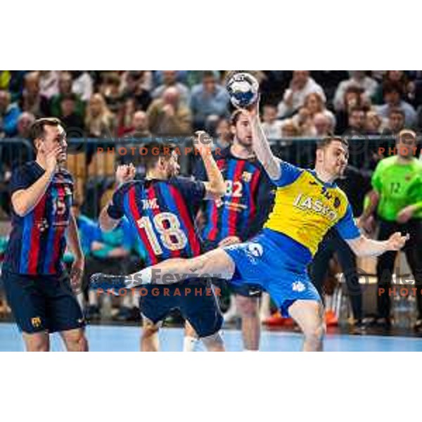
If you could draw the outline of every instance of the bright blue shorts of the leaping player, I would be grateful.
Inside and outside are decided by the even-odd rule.
[[[307,274],[311,252],[292,238],[264,229],[250,241],[223,250],[236,264],[231,283],[261,286],[283,316],[288,316],[288,308],[295,300],[321,302]]]

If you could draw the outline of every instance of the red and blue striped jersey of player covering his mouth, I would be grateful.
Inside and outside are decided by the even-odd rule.
[[[11,177],[11,194],[34,184],[45,170],[36,162],[18,167]],[[67,170],[53,175],[37,205],[24,217],[12,207],[12,231],[4,269],[17,274],[60,274],[66,229],[73,198],[73,179]]]

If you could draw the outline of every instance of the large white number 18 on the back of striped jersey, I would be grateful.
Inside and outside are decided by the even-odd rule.
[[[137,223],[140,229],[145,230],[146,237],[155,255],[162,255],[162,248],[158,237],[160,237],[162,245],[169,250],[181,250],[188,243],[186,234],[180,228],[177,215],[174,215],[172,212],[160,212],[153,219],[142,217]]]

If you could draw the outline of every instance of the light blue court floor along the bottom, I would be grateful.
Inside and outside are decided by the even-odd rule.
[[[88,326],[89,348],[94,352],[136,352],[139,350],[138,327],[134,326]],[[224,331],[226,349],[239,351],[242,347],[241,333]],[[181,351],[183,331],[181,328],[163,328],[160,345],[165,352]],[[302,338],[299,333],[263,331],[260,350],[265,352],[292,352],[300,350]],[[52,349],[63,350],[58,335],[53,335]],[[22,351],[23,342],[15,324],[0,323],[0,352]],[[198,350],[203,350],[202,345]],[[422,338],[383,337],[378,335],[328,334],[325,341],[328,352],[419,352]]]

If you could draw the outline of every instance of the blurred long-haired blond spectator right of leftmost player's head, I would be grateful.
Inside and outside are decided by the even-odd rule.
[[[85,127],[91,138],[107,138],[113,136],[115,118],[108,110],[106,101],[101,94],[94,94],[89,100]]]

